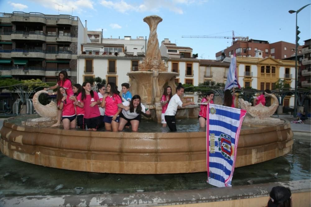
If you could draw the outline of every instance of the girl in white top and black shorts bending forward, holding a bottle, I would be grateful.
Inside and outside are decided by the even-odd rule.
[[[139,122],[142,118],[140,113],[150,114],[150,110],[140,102],[139,95],[134,95],[131,101],[118,104],[118,107],[123,109],[120,113],[119,131],[122,131],[128,122],[131,122],[132,131],[138,131]]]

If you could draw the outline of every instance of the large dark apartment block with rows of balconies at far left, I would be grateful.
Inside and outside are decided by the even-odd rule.
[[[65,70],[75,83],[84,34],[77,16],[0,13],[0,77],[54,82]]]

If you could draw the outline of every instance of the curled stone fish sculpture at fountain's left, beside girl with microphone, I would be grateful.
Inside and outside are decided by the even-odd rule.
[[[40,90],[35,93],[34,97],[32,98],[33,106],[36,112],[41,116],[40,118],[28,119],[27,121],[23,121],[22,125],[25,126],[49,126],[53,125],[57,122],[57,104],[51,101],[47,105],[42,105],[39,102],[39,95],[40,94],[47,94],[48,92],[45,90]]]

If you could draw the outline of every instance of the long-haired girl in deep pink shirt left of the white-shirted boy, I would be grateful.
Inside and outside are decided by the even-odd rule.
[[[96,131],[100,121],[100,111],[97,105],[100,104],[100,99],[97,93],[91,90],[90,82],[82,84],[84,90],[77,97],[75,105],[84,108],[84,122],[89,131]]]

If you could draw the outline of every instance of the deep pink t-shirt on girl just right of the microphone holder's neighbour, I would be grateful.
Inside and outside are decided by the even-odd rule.
[[[89,119],[99,117],[100,112],[98,106],[97,105],[93,107],[90,106],[92,102],[99,100],[97,93],[94,92],[94,98],[91,97],[91,94],[85,95],[86,98],[83,100],[81,100],[81,95],[82,95],[81,93],[78,95],[77,100],[84,104],[84,112],[85,112],[84,118]]]

